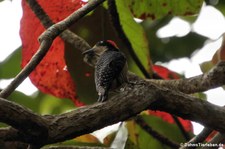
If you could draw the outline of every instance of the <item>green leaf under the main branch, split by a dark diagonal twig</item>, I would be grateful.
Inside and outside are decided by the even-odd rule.
[[[155,131],[159,132],[161,135],[171,139],[174,142],[186,142],[183,135],[181,134],[179,128],[175,124],[168,123],[159,117],[151,115],[142,115],[145,122],[151,126]],[[159,142],[157,139],[148,134],[134,121],[129,121],[127,123],[127,128],[129,132],[128,145],[134,146],[138,149],[146,148],[157,148],[157,149],[168,149],[170,147]]]

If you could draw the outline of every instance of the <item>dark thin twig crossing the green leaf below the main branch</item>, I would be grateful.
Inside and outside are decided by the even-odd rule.
[[[169,147],[172,147],[172,148],[179,148],[180,147],[180,145],[178,143],[170,140],[169,138],[167,138],[164,135],[160,134],[159,132],[157,132],[153,128],[149,127],[148,124],[144,121],[144,119],[141,116],[136,116],[135,122],[142,129],[144,129],[146,132],[148,132],[149,134],[151,134],[159,142],[161,142],[161,143],[163,143],[163,144],[165,144],[165,145],[167,145]]]

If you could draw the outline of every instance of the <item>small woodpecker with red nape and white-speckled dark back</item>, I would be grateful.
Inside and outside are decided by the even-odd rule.
[[[93,48],[83,52],[83,55],[97,57],[95,86],[99,95],[98,102],[106,101],[110,90],[128,82],[126,57],[112,40],[99,41]]]

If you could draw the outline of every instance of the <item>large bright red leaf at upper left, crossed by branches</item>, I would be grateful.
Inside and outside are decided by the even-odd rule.
[[[81,0],[38,0],[38,3],[54,22],[63,20],[85,4]],[[23,68],[36,53],[39,47],[37,39],[45,29],[26,0],[22,0],[22,7],[23,17],[21,19],[20,37],[23,46]],[[76,86],[67,70],[64,50],[64,42],[57,37],[47,55],[29,77],[32,83],[42,92],[59,98],[70,98],[77,106],[81,106],[83,104],[77,99]]]

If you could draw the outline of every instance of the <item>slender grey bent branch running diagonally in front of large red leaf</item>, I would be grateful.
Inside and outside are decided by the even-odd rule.
[[[7,98],[22,82],[23,80],[36,68],[43,57],[48,52],[53,40],[61,34],[64,30],[70,27],[73,23],[81,19],[87,13],[95,9],[105,0],[90,1],[85,6],[81,7],[63,21],[48,28],[39,38],[41,43],[39,50],[31,58],[29,63],[21,70],[21,72],[14,78],[14,80],[0,92],[0,97]]]

